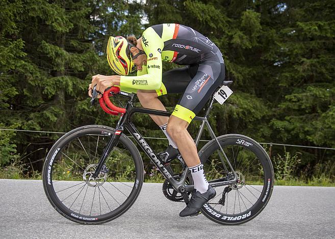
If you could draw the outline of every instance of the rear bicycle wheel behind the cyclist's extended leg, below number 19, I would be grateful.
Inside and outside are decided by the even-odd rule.
[[[271,197],[272,163],[264,148],[249,137],[229,134],[219,136],[218,141],[224,154],[215,139],[199,151],[208,182],[216,183],[216,197],[204,204],[202,213],[220,224],[245,223],[261,213]],[[217,184],[234,179],[224,155],[237,175],[236,184]]]

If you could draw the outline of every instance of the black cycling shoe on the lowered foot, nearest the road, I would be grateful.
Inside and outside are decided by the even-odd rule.
[[[205,204],[210,199],[215,197],[215,195],[216,195],[216,192],[211,187],[211,185],[208,186],[208,190],[205,193],[200,193],[199,191],[196,191],[194,189],[192,192],[192,197],[190,199],[190,202],[183,209],[183,211],[179,213],[179,216],[187,217],[187,216],[193,216],[197,214],[201,210],[201,207],[203,206],[203,204]]]

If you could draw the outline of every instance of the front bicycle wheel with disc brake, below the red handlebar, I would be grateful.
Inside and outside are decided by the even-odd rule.
[[[143,184],[143,162],[137,147],[125,135],[121,135],[117,146],[106,161],[106,172],[101,171],[99,174],[101,179],[87,180],[95,170],[100,152],[114,132],[115,129],[111,127],[99,125],[76,128],[59,138],[47,154],[42,170],[43,188],[51,205],[65,218],[83,224],[105,223],[124,214],[137,199]],[[128,163],[126,169],[122,168],[125,167],[125,163]],[[120,170],[114,169],[117,167]],[[60,190],[67,186],[70,187]],[[68,194],[69,190],[78,187],[80,188],[68,197],[63,197],[63,194]],[[86,191],[85,196],[83,191]],[[93,199],[90,201],[89,196],[92,194]],[[83,208],[87,204],[90,206],[85,201],[86,195],[87,201],[92,204],[90,213],[88,208]],[[71,206],[69,206],[70,200],[73,200]],[[124,201],[121,203],[122,200]],[[96,206],[97,201],[99,206]],[[82,204],[78,212],[80,203]]]

